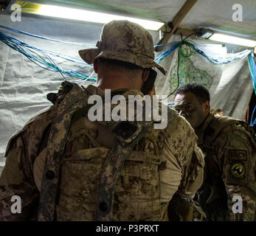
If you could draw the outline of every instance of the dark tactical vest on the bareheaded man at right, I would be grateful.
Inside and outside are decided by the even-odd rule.
[[[224,182],[221,179],[222,170],[218,164],[217,153],[213,150],[215,139],[221,131],[228,125],[236,123],[243,126],[255,145],[255,134],[252,128],[242,120],[232,117],[215,117],[204,131],[204,143],[198,145],[205,155],[204,183],[196,192],[194,201],[203,209],[207,221],[225,221],[227,212],[227,194]]]

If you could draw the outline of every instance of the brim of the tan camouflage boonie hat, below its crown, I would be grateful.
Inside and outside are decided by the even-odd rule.
[[[145,55],[135,55],[131,52],[114,52],[105,50],[103,52],[99,52],[99,49],[83,49],[79,50],[80,57],[89,64],[94,63],[96,58],[105,58],[105,59],[114,59],[114,60],[122,60],[129,63],[134,63],[137,66],[141,66],[142,68],[151,68],[156,67],[159,69],[162,74],[167,74],[167,70],[161,66],[159,63],[156,63],[152,58],[148,58]]]

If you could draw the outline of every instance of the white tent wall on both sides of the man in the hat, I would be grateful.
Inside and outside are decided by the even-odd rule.
[[[4,14],[0,14],[0,24],[46,38],[92,45],[95,45],[100,38],[100,32],[103,27],[102,24],[25,16],[22,16],[21,22],[13,22],[10,20],[10,15]],[[75,58],[79,58],[78,49],[84,48],[83,46],[45,41],[6,30],[2,31],[39,49],[49,49]],[[151,33],[155,43],[157,43],[159,41],[158,32]],[[179,41],[179,37],[173,36],[170,41]],[[1,172],[5,162],[4,152],[8,139],[15,131],[20,130],[38,111],[52,104],[46,100],[46,94],[57,91],[63,81],[63,77],[59,72],[50,72],[35,65],[24,55],[2,42],[0,42],[0,52]],[[161,61],[169,73],[167,77],[162,76],[160,72],[158,73],[156,80],[157,94],[167,95],[170,93],[169,77],[173,58],[176,59],[176,54],[174,53]],[[56,62],[63,69],[70,69],[69,67],[72,66],[71,63],[66,63],[61,59],[56,60]],[[247,59],[235,60],[226,65],[215,66],[201,55],[194,55],[193,63],[196,68],[204,69],[212,76],[212,86],[210,87],[212,108],[222,108],[224,114],[243,119],[252,94]],[[91,71],[86,72],[86,74],[90,73]],[[95,74],[94,76],[96,77]],[[170,97],[169,102],[172,101],[173,97]]]

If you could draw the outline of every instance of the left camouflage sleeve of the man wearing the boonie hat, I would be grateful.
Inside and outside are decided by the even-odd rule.
[[[0,221],[35,220],[39,192],[31,171],[24,142],[18,136],[11,142],[0,176]]]

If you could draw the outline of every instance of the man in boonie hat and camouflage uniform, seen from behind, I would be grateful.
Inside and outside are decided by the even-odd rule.
[[[114,182],[119,163],[108,164],[109,156],[122,157],[131,148],[136,122],[120,133],[122,122],[91,122],[87,115],[91,95],[103,97],[104,89],[111,89],[127,101],[130,95],[142,96],[151,67],[166,74],[153,60],[150,32],[129,21],[111,21],[97,48],[79,53],[94,63],[97,85],[63,83],[58,94],[48,95],[53,105],[10,139],[0,178],[0,221],[167,221],[173,194],[193,198],[203,181],[204,159],[190,124],[168,108],[166,128],[154,129],[151,123],[142,139],[132,142]],[[102,198],[109,197],[113,183],[109,205]],[[13,195],[21,198],[21,213],[10,211]],[[101,215],[109,207],[110,214]]]

